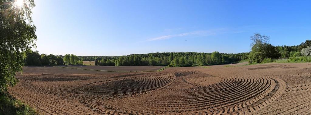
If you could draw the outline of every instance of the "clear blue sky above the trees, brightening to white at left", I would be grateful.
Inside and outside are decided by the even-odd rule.
[[[249,52],[311,39],[311,1],[35,0],[39,53],[119,56],[153,52]]]

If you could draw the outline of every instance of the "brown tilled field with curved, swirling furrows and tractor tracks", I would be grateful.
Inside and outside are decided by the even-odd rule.
[[[24,67],[9,92],[41,114],[311,113],[311,63],[244,64]]]

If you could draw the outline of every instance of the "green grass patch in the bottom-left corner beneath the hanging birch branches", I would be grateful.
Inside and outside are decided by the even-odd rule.
[[[38,115],[38,113],[20,100],[8,94],[0,94],[0,115]]]

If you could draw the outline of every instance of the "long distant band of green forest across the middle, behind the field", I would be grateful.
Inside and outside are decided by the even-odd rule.
[[[240,62],[248,59],[249,53],[147,53],[127,56],[78,56],[80,59],[94,60],[97,66],[203,66]]]

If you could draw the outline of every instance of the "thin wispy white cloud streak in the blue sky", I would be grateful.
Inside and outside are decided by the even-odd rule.
[[[154,41],[154,40],[165,40],[170,39],[174,37],[183,37],[183,36],[215,36],[219,33],[223,33],[226,30],[226,28],[220,28],[220,29],[210,29],[210,30],[201,30],[201,31],[194,31],[194,32],[186,32],[186,33],[180,33],[180,34],[174,34],[174,35],[166,35],[166,36],[160,36],[155,38],[147,39],[147,41]]]

